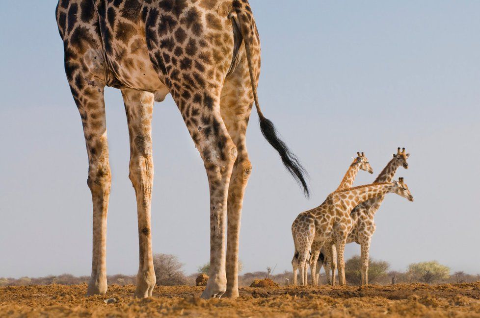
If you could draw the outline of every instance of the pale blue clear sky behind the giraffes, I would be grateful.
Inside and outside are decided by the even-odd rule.
[[[356,151],[375,175],[398,146],[415,202],[389,195],[376,215],[371,256],[392,269],[436,259],[480,273],[480,1],[250,0],[262,40],[263,112],[310,173],[310,200],[261,136],[243,205],[244,271],[291,269],[298,213],[333,191]],[[0,277],[91,266],[91,197],[80,116],[63,73],[55,0],[5,0],[0,11]],[[108,274],[138,267],[136,204],[120,92],[108,89],[113,185]],[[154,252],[178,255],[187,273],[209,259],[203,163],[172,99],[153,121]],[[356,184],[374,176],[361,171]],[[346,257],[359,246],[347,246]]]

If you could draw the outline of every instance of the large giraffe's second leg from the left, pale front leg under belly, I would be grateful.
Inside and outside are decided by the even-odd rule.
[[[153,187],[152,156],[152,93],[122,89],[130,135],[130,173],[135,189],[138,214],[138,243],[140,264],[136,278],[135,296],[152,296],[157,281],[153,268],[150,204]]]

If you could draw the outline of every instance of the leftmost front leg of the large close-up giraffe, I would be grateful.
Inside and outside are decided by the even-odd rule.
[[[71,46],[65,50],[65,73],[83,125],[88,153],[87,184],[93,202],[92,273],[87,295],[107,293],[107,210],[111,176],[104,101],[105,72],[103,61],[97,56],[102,56],[101,50],[94,46],[83,50]]]

